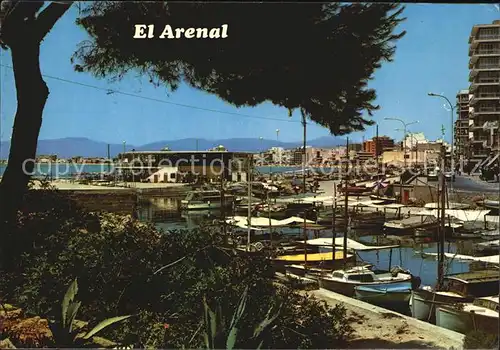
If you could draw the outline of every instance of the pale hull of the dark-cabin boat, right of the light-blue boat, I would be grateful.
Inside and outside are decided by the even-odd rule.
[[[442,295],[433,291],[417,289],[411,292],[410,309],[417,320],[436,322],[436,307],[472,301],[470,298]]]

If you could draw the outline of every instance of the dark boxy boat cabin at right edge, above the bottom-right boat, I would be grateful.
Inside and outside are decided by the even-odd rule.
[[[498,295],[499,271],[482,270],[447,275],[441,291],[457,293],[463,297],[487,297]]]

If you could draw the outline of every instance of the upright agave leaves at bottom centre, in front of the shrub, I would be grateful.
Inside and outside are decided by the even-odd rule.
[[[245,288],[245,291],[240,298],[238,307],[233,314],[229,327],[227,327],[226,322],[222,316],[220,305],[218,306],[216,311],[213,311],[208,306],[206,299],[203,299],[205,310],[204,341],[207,349],[232,350],[235,348],[235,345],[237,344],[240,322],[245,313],[247,298],[248,287]],[[262,347],[264,342],[264,340],[262,339],[263,333],[269,326],[273,324],[273,322],[279,316],[280,308],[278,308],[276,312],[273,311],[274,310],[270,308],[266,315],[266,318],[254,329],[252,340],[255,341],[256,344],[258,344],[257,349],[260,349]]]

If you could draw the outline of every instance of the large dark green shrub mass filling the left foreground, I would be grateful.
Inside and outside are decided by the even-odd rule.
[[[2,299],[56,318],[77,277],[85,321],[135,315],[103,331],[124,344],[203,347],[203,297],[231,319],[246,288],[238,346],[252,347],[255,325],[279,305],[266,347],[335,348],[351,332],[342,307],[277,287],[267,260],[220,248],[220,234],[208,228],[160,232],[131,217],[87,213],[57,191],[37,190],[27,195],[16,232],[4,238],[10,259],[0,271]]]

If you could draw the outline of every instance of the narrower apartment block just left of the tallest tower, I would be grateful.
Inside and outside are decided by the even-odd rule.
[[[469,90],[460,90],[457,93],[456,110],[457,120],[455,121],[454,152],[459,159],[469,159]]]

